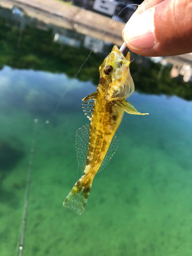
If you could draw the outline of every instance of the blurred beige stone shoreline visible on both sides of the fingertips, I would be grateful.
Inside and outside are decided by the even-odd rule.
[[[101,39],[113,45],[121,46],[123,43],[121,32],[125,23],[116,21],[102,14],[84,10],[74,5],[55,0],[1,0],[0,7],[13,8],[17,6],[25,10],[25,15],[39,21],[39,29],[46,30],[54,25],[60,28],[74,30],[92,38]],[[113,22],[113,24],[112,24]],[[42,23],[48,26],[42,25]],[[109,27],[110,26],[110,27]],[[104,35],[102,33],[106,30]],[[152,61],[159,62],[162,69],[171,65],[170,76],[183,76],[185,82],[192,81],[192,53],[168,57],[152,57]]]

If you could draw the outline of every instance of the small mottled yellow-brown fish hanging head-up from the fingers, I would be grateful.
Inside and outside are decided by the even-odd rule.
[[[124,57],[118,47],[114,46],[99,67],[97,91],[82,99],[84,114],[91,121],[76,133],[78,169],[84,172],[63,202],[63,206],[79,215],[87,204],[96,173],[103,170],[117,150],[115,132],[124,112],[148,114],[141,114],[126,101],[135,90],[130,63],[130,52]]]

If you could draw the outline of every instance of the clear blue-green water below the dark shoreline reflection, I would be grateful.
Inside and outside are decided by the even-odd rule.
[[[42,35],[46,38],[45,32]],[[79,216],[62,202],[77,180],[75,132],[88,123],[81,99],[96,91],[93,71],[90,78],[83,77],[83,70],[80,79],[69,77],[74,60],[69,59],[71,66],[63,64],[63,70],[68,71],[61,72],[57,55],[62,50],[57,44],[53,51],[57,62],[51,54],[44,58],[48,49],[38,55],[36,48],[37,53],[31,52],[33,61],[22,67],[27,62],[17,59],[19,51],[27,54],[30,45],[25,48],[24,40],[17,48],[13,42],[7,39],[0,71],[0,254],[18,255],[31,142],[35,139],[24,256],[190,255],[192,102],[157,90],[162,80],[151,84],[156,92],[140,90],[130,97],[138,111],[150,115],[124,114],[116,133],[119,148],[109,165],[96,175],[86,209]],[[35,42],[38,38],[34,35],[33,49]],[[84,55],[89,52],[83,51]],[[74,48],[73,56],[76,53],[79,49]],[[34,67],[34,56],[41,57],[44,68]],[[95,58],[102,62],[104,57]],[[143,80],[153,82],[156,70],[158,66],[151,70],[152,77],[142,74]],[[86,71],[89,73],[88,66]],[[169,83],[166,72],[162,79]],[[94,79],[96,76],[98,73]],[[176,90],[181,87],[178,81],[172,81]],[[137,89],[137,81],[135,86]],[[191,87],[186,90],[191,91]],[[182,95],[187,95],[186,90]]]

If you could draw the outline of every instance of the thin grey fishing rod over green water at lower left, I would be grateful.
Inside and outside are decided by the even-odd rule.
[[[26,183],[26,190],[25,190],[25,204],[24,204],[22,222],[19,227],[18,240],[17,240],[18,247],[16,246],[15,256],[17,255],[18,248],[19,248],[19,256],[23,255],[23,249],[24,249],[24,238],[25,238],[25,229],[26,229],[26,221],[27,221],[28,202],[29,202],[29,195],[30,195],[33,154],[35,151],[37,122],[38,122],[38,119],[37,118],[34,119],[33,136],[31,141],[31,150],[29,155],[29,166],[28,166],[28,173],[27,173],[27,183]]]

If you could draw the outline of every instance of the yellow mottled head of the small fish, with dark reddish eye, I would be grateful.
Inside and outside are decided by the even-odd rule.
[[[130,53],[126,57],[114,46],[99,67],[99,84],[106,91],[106,99],[126,99],[134,93],[134,82],[130,74]]]

